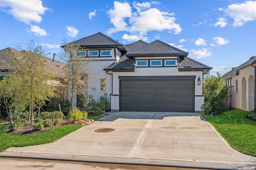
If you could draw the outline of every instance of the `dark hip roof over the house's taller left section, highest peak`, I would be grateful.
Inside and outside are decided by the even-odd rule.
[[[82,39],[78,39],[77,41],[74,41],[72,43],[75,43],[76,45],[80,46],[89,46],[89,45],[121,45],[114,39],[104,35],[103,33],[96,33],[93,35],[90,35],[88,37],[84,37]]]

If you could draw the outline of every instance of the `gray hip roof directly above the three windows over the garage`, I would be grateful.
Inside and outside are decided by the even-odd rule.
[[[156,40],[152,43],[143,45],[143,47],[138,48],[136,51],[128,51],[128,55],[134,55],[134,54],[172,54],[172,53],[182,53],[184,55],[187,55],[185,51],[182,51],[176,47],[173,47],[172,45],[169,45],[167,43],[164,43],[162,41]]]

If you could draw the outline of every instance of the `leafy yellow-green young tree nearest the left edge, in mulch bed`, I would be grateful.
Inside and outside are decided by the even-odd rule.
[[[23,49],[26,50],[23,50]],[[53,73],[46,64],[43,56],[48,50],[34,39],[16,44],[16,50],[10,50],[6,57],[10,57],[10,88],[6,88],[6,94],[13,92],[13,101],[22,100],[22,104],[13,102],[14,107],[21,107],[26,103],[29,106],[29,118],[33,124],[33,108],[35,105],[44,105],[46,101],[54,97],[54,88],[49,83],[53,79]],[[13,77],[12,77],[12,76]],[[15,89],[15,90],[13,90]],[[26,106],[25,105],[25,106]]]

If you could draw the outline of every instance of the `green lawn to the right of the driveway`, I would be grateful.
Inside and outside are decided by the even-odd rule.
[[[247,119],[247,113],[243,110],[229,110],[220,115],[203,117],[233,149],[256,156],[256,121]]]

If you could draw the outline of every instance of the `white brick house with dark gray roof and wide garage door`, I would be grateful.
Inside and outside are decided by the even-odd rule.
[[[86,87],[96,100],[107,93],[112,111],[201,112],[203,75],[212,68],[185,51],[159,40],[122,45],[102,33],[73,43],[89,49],[77,55],[95,58]]]

